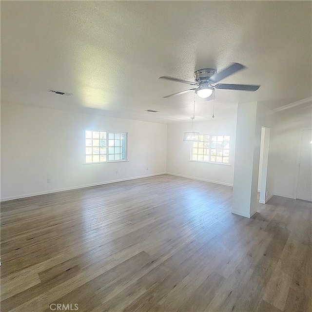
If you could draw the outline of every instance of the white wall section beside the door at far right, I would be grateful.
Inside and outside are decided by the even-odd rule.
[[[299,111],[300,112],[300,111]],[[273,151],[274,194],[296,198],[301,130],[312,129],[311,107],[274,114],[270,148]]]

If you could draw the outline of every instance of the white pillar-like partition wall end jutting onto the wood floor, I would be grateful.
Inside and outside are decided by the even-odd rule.
[[[272,126],[270,109],[257,102],[238,104],[232,204],[232,212],[237,215],[251,217],[259,207],[257,189],[263,126]],[[268,173],[266,181],[272,176],[273,173]],[[267,183],[269,196],[273,194],[271,185],[272,182]]]

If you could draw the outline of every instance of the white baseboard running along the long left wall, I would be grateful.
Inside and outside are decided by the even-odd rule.
[[[38,193],[32,193],[32,194],[17,195],[17,196],[12,196],[12,197],[4,197],[4,198],[0,199],[0,202],[7,201],[7,200],[13,200],[13,199],[20,199],[20,198],[38,196],[38,195],[45,195],[45,194],[52,194],[52,193],[58,193],[58,192],[64,192],[64,191],[78,190],[78,189],[83,189],[83,188],[91,187],[91,186],[98,186],[98,185],[105,185],[105,184],[116,183],[116,182],[123,182],[123,181],[141,179],[143,177],[149,177],[149,176],[161,176],[161,175],[165,175],[165,174],[166,174],[165,172],[162,172],[162,173],[159,173],[159,174],[152,174],[152,175],[145,175],[145,176],[134,176],[134,177],[129,177],[129,178],[125,178],[125,179],[118,179],[118,180],[111,180],[111,181],[105,181],[105,182],[99,182],[99,183],[85,184],[85,185],[79,185],[79,186],[68,187],[68,188],[63,188],[63,189],[56,189],[56,190],[51,190],[51,191],[44,191],[44,192],[38,192]]]

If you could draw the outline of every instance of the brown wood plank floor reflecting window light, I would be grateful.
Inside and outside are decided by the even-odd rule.
[[[311,311],[311,203],[231,205],[169,175],[3,202],[1,312]]]

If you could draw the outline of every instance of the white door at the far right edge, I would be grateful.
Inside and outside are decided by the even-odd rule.
[[[296,197],[312,201],[312,130],[302,131]]]

